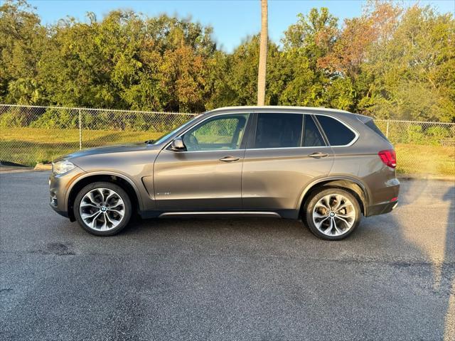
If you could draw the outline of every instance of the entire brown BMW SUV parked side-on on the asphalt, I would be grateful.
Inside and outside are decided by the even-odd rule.
[[[205,112],[156,141],[53,163],[50,206],[109,236],[148,217],[301,219],[317,237],[352,233],[397,206],[395,151],[370,117],[306,107]]]

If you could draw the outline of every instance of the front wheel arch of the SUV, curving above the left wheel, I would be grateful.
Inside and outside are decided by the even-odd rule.
[[[100,181],[119,185],[129,195],[129,198],[132,201],[133,210],[134,207],[139,210],[142,209],[142,201],[139,190],[137,189],[137,186],[134,184],[134,182],[127,176],[114,172],[86,173],[80,178],[77,178],[77,180],[70,185],[70,188],[68,188],[67,195],[65,197],[65,207],[67,208],[70,221],[75,221],[73,204],[77,193],[79,193],[79,191],[86,185]]]

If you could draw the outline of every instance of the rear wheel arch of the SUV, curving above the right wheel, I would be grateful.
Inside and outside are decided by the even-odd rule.
[[[360,210],[362,211],[363,215],[366,216],[368,202],[370,200],[368,188],[364,183],[362,183],[362,181],[356,178],[344,176],[318,179],[310,183],[308,186],[306,186],[306,188],[300,195],[299,205],[297,206],[297,210],[299,210],[299,215],[301,214],[303,207],[306,203],[306,200],[308,200],[311,193],[313,193],[314,190],[318,188],[324,187],[341,188],[343,190],[348,190],[358,200]]]

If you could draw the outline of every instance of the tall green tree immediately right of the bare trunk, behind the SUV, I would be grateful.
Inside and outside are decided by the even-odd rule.
[[[333,49],[338,19],[328,9],[311,9],[284,32],[279,103],[353,109],[353,86],[341,75],[321,68],[318,60]]]

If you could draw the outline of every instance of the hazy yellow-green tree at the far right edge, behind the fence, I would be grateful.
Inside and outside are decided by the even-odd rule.
[[[361,67],[369,87],[360,111],[380,118],[455,121],[452,14],[414,5],[392,28],[373,42]]]

